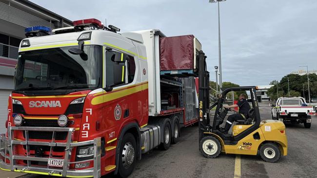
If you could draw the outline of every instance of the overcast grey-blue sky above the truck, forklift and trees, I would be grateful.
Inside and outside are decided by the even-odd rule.
[[[70,20],[97,18],[121,32],[159,29],[193,34],[218,66],[218,12],[208,0],[31,0]],[[317,0],[227,0],[220,3],[222,81],[268,85],[298,66],[317,70]]]

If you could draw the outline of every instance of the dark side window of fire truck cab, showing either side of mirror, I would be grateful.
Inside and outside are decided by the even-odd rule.
[[[115,62],[114,57],[115,57],[115,52],[114,51],[107,51],[106,52],[106,85],[110,86],[113,85],[114,83],[114,65]],[[125,84],[129,84],[131,82],[133,82],[134,80],[134,76],[135,76],[135,72],[136,72],[136,64],[135,64],[135,60],[134,57],[131,55],[127,55],[126,54],[126,62],[125,62],[125,66],[126,66],[126,78],[124,79],[124,83]],[[127,79],[127,80],[126,80]]]

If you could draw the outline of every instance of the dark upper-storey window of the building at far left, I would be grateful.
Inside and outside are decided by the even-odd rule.
[[[0,34],[0,56],[18,59],[21,39]]]

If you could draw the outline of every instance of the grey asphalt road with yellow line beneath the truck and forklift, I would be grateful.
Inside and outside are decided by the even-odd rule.
[[[271,108],[260,107],[261,119],[271,119]],[[316,178],[317,117],[312,127],[286,125],[288,155],[277,163],[268,163],[259,156],[225,155],[206,159],[198,151],[198,126],[181,129],[180,141],[167,151],[154,150],[142,155],[129,178]],[[1,178],[16,178],[17,173],[0,171]],[[19,178],[51,178],[23,175]],[[109,178],[109,177],[105,177]]]

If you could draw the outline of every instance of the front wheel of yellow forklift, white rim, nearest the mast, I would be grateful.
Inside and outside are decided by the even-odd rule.
[[[199,151],[206,158],[217,158],[221,152],[221,144],[213,136],[203,137],[199,142]]]

